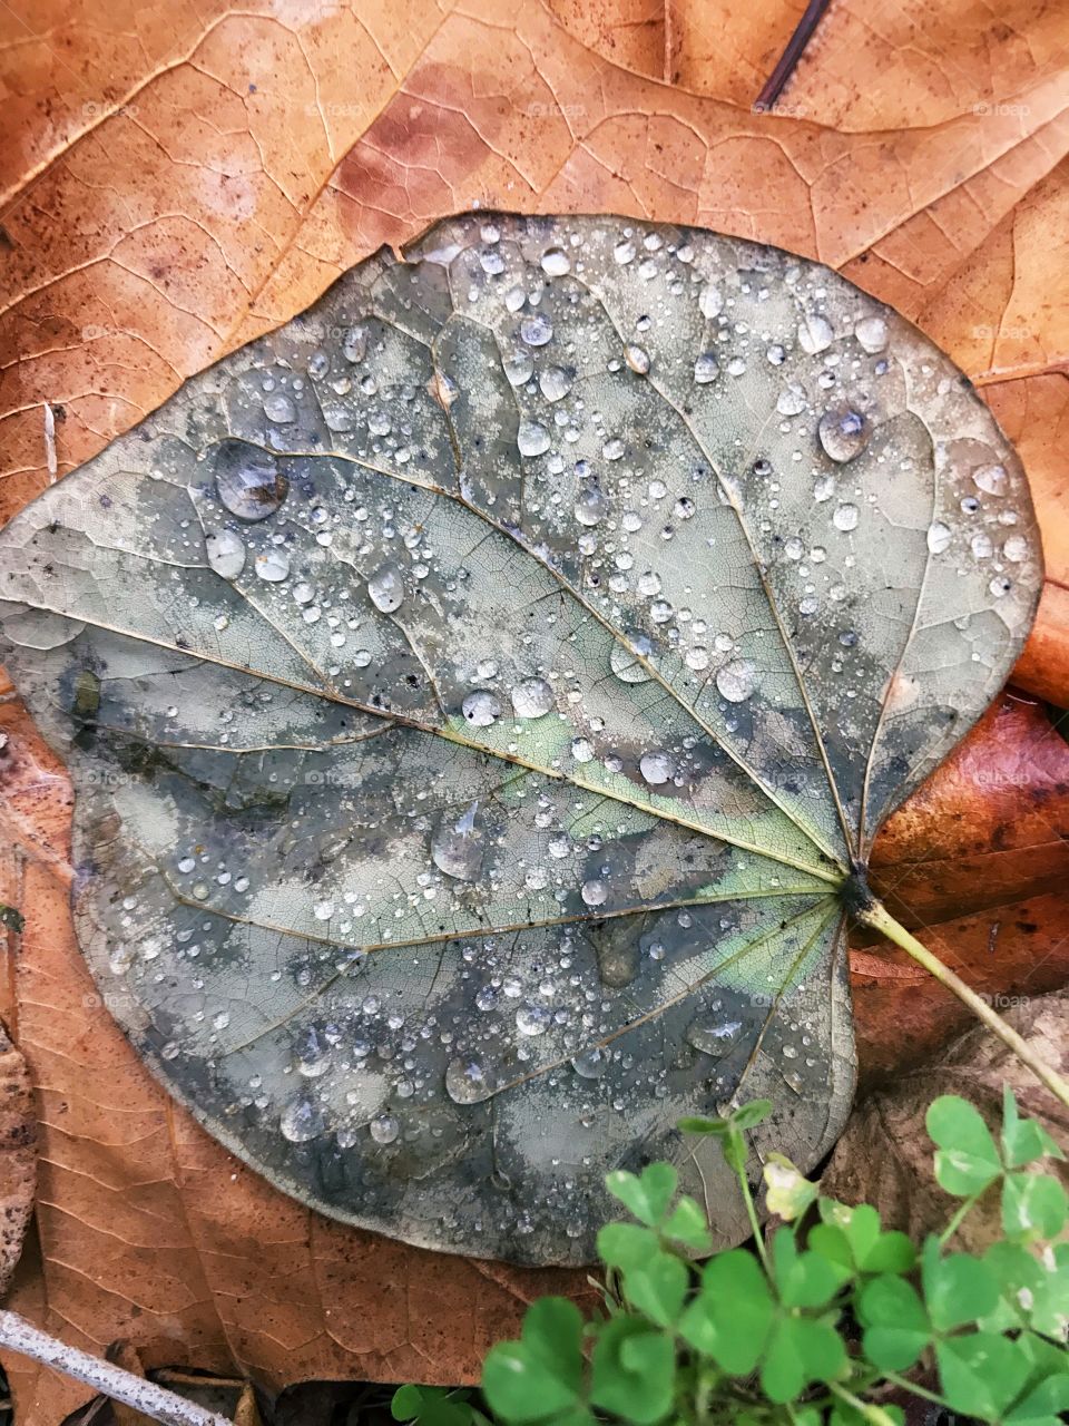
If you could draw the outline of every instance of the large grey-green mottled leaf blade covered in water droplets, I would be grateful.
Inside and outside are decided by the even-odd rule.
[[[842,1127],[844,907],[1042,579],[908,322],[778,250],[439,225],[10,526],[105,1002],[228,1147],[412,1242],[583,1262],[603,1175]]]

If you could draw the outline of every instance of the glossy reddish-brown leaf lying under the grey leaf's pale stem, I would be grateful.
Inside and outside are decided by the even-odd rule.
[[[887,821],[872,884],[999,1012],[1069,981],[1069,746],[1012,692]],[[935,1055],[972,1017],[888,941],[851,951],[864,1084]]]

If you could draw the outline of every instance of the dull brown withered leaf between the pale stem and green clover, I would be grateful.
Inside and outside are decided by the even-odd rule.
[[[1050,1064],[1066,1064],[1069,992],[1029,1000],[1006,1012],[1018,1034]],[[939,1232],[961,1199],[945,1194],[932,1176],[932,1144],[925,1131],[928,1105],[941,1094],[975,1104],[988,1125],[1002,1121],[1002,1087],[1008,1084],[1021,1112],[1038,1119],[1059,1144],[1069,1114],[1029,1078],[1028,1071],[982,1028],[962,1035],[936,1062],[904,1074],[889,1089],[864,1099],[851,1115],[821,1179],[821,1189],[847,1204],[872,1204],[888,1228],[914,1241]],[[1046,1171],[1069,1186],[1069,1166],[1048,1161]],[[1002,1236],[998,1194],[982,1199],[965,1219],[955,1245],[981,1252]]]

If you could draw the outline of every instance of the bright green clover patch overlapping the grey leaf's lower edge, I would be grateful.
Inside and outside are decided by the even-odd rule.
[[[1060,1182],[1029,1171],[1063,1158],[1005,1091],[996,1142],[956,1095],[928,1111],[935,1178],[962,1202],[919,1249],[885,1231],[868,1204],[820,1194],[794,1165],[764,1165],[765,1239],[745,1172],[747,1131],[768,1101],[721,1119],[683,1119],[714,1135],[738,1176],[753,1251],[710,1252],[707,1215],[677,1195],[670,1164],[614,1172],[630,1221],[606,1224],[603,1310],[542,1298],[517,1342],[490,1349],[476,1393],[402,1386],[393,1417],[419,1426],[892,1426],[902,1392],[992,1426],[1058,1426],[1069,1409],[1069,1243]],[[1001,1195],[1002,1238],[954,1251],[966,1215]],[[932,1389],[921,1380],[934,1383]]]

